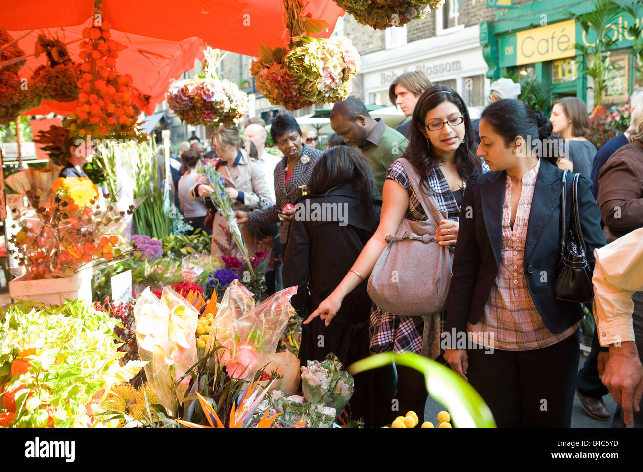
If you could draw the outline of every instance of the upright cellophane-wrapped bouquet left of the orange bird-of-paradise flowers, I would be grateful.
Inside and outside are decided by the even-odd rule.
[[[189,376],[181,377],[197,362],[198,318],[199,311],[169,287],[163,288],[161,299],[146,289],[134,305],[138,353],[149,361],[147,380],[168,411],[176,412],[173,400],[182,401],[190,383]]]

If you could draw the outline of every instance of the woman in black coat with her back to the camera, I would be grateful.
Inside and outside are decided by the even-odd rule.
[[[373,236],[382,205],[367,161],[350,146],[335,146],[321,155],[308,189],[309,195],[296,205],[299,213],[284,259],[284,286],[299,287],[291,302],[304,319],[338,286]],[[303,326],[302,365],[329,353],[345,367],[367,357],[369,317],[364,281],[344,299],[331,325],[316,318]],[[366,426],[381,426],[374,423],[372,390],[372,374],[356,376],[350,410]]]

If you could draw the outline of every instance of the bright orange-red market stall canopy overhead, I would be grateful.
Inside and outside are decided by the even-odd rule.
[[[41,30],[59,35],[71,58],[80,62],[78,42],[94,15],[94,0],[2,3],[0,28],[19,39],[17,44],[29,55],[21,77],[29,78],[46,62],[44,55],[32,55]],[[329,23],[318,37],[329,37],[344,13],[332,0],[310,1],[305,12]],[[111,22],[113,39],[126,46],[116,70],[131,74],[134,87],[150,96],[143,108],[148,114],[163,101],[172,80],[203,58],[206,46],[257,57],[262,44],[276,48],[289,42],[282,0],[104,0],[102,21]],[[69,114],[74,109],[75,102],[43,101],[27,114]]]

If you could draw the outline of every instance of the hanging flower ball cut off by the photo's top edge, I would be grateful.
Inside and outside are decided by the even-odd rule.
[[[426,13],[437,10],[445,0],[333,0],[358,23],[376,30],[403,26],[411,20],[422,19]]]

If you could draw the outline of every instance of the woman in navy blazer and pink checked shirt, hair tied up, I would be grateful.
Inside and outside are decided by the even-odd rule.
[[[468,333],[469,349],[447,349],[444,358],[480,392],[500,427],[568,428],[572,418],[583,310],[554,295],[563,171],[557,156],[527,148],[551,132],[547,117],[523,101],[489,105],[478,155],[491,172],[472,179],[462,202],[473,214],[460,224],[446,331]],[[593,250],[605,240],[591,184],[581,175],[578,204],[593,270]]]

